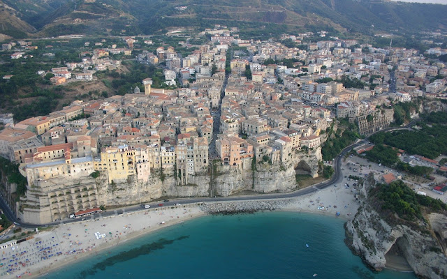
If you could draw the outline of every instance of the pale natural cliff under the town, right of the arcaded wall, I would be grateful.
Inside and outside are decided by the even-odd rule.
[[[109,184],[107,177],[96,179],[100,204],[126,205],[149,202],[163,197],[210,197],[229,196],[250,190],[258,193],[287,192],[296,187],[295,169],[316,177],[321,149],[293,152],[286,164],[256,163],[244,160],[237,167],[216,163],[206,172],[189,176],[189,183],[180,185],[174,169],[153,172],[147,182],[137,181],[131,176],[126,181]]]

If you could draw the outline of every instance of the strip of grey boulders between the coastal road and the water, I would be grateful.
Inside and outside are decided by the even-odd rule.
[[[290,202],[289,199],[284,200],[254,200],[254,201],[237,201],[237,202],[212,202],[200,205],[200,209],[208,214],[238,214],[238,213],[255,213],[257,211],[274,211],[281,209]]]

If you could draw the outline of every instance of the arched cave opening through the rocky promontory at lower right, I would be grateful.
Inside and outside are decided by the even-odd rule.
[[[407,261],[407,257],[409,255],[408,248],[409,241],[405,236],[400,236],[397,238],[393,246],[391,246],[390,250],[388,250],[385,254],[385,266],[399,271],[413,271]]]

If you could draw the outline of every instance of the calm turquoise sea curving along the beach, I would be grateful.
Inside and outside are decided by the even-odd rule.
[[[416,278],[373,273],[344,244],[344,220],[310,213],[205,216],[43,278]],[[306,247],[306,244],[309,247]]]

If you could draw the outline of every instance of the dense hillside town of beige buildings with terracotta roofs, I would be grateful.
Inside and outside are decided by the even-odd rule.
[[[1,117],[0,155],[17,163],[27,178],[27,193],[17,202],[22,220],[48,223],[98,209],[99,175],[115,185],[147,182],[166,169],[178,185],[187,185],[216,163],[286,165],[293,153],[320,149],[337,118],[369,135],[390,126],[393,103],[446,97],[445,63],[430,64],[416,50],[335,37],[302,50],[274,40],[242,40],[237,29],[221,26],[204,33],[211,34],[210,42],[187,56],[173,46],[134,55],[139,63],[162,67],[166,86],[175,89],[154,88],[147,77],[124,96],[75,100],[63,110],[18,122]],[[281,40],[301,45],[314,35],[284,34]],[[138,40],[124,40],[128,48],[87,51],[79,61],[52,68],[50,81],[95,82],[96,71],[120,67],[109,54],[132,57]],[[86,41],[85,47],[90,44],[107,42]],[[27,56],[31,42],[2,47],[16,50],[10,59],[33,59]]]

